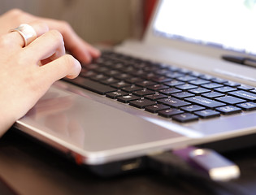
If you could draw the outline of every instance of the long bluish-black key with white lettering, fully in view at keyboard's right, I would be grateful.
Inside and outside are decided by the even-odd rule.
[[[215,108],[215,107],[219,107],[219,106],[225,106],[224,103],[210,100],[207,98],[202,98],[199,96],[192,97],[192,98],[185,98],[184,100],[188,101],[188,102],[193,102],[195,104],[199,104],[200,106],[205,106],[207,108]]]

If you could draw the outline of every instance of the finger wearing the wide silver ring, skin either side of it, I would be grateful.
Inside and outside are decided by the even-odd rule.
[[[37,37],[40,37],[42,34],[46,33],[49,31],[48,25],[43,22],[33,22],[29,24],[32,26],[32,28],[35,30],[37,33]],[[10,40],[11,42],[9,43],[10,46],[12,47],[24,47],[24,38],[20,35],[19,32],[13,31],[7,33],[7,40]],[[19,47],[18,47],[19,46]]]

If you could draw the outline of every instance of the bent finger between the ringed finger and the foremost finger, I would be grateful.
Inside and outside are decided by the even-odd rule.
[[[63,37],[60,32],[51,30],[38,37],[24,48],[28,54],[33,54],[35,61],[45,60],[44,64],[65,54]]]

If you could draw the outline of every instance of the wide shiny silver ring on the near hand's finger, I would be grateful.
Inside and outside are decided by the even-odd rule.
[[[29,24],[20,24],[19,27],[11,29],[10,32],[19,32],[24,39],[24,46],[27,46],[37,38],[37,32]]]

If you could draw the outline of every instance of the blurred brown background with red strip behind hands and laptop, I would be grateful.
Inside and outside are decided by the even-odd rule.
[[[1,0],[0,14],[19,8],[33,15],[66,20],[91,44],[140,39],[156,0]]]

